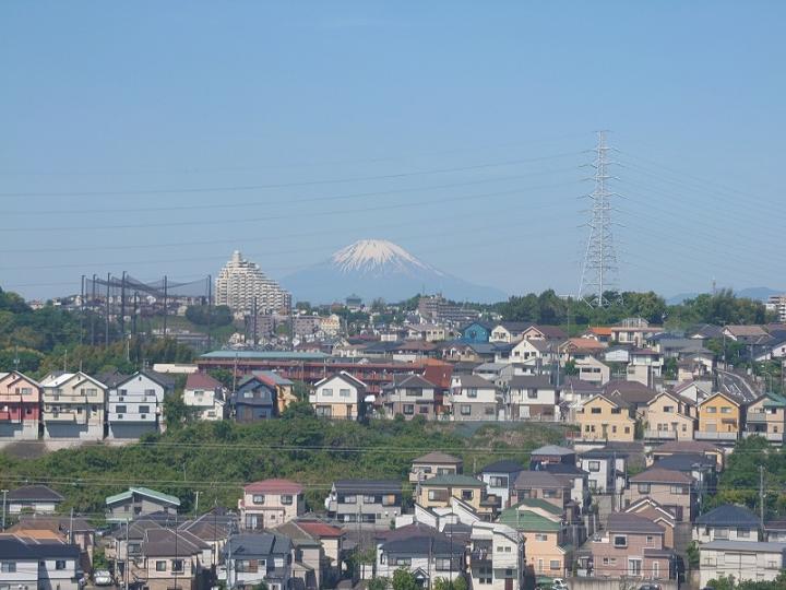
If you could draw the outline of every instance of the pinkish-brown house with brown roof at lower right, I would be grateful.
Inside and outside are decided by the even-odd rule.
[[[610,514],[606,530],[582,548],[579,562],[594,577],[668,580],[677,575],[676,554],[664,544],[664,529],[630,512]]]

